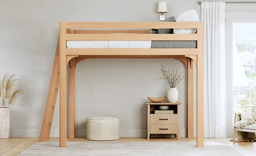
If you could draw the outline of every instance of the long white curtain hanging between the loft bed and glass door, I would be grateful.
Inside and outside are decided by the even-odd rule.
[[[202,2],[204,137],[226,137],[225,2]]]

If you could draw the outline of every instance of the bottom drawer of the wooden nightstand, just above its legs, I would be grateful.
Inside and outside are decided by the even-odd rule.
[[[150,134],[177,134],[177,124],[150,124]]]

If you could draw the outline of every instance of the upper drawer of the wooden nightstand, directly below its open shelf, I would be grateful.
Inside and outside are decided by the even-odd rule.
[[[150,124],[177,124],[177,114],[150,114]]]

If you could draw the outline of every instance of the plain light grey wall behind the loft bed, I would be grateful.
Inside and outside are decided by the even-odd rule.
[[[0,3],[0,76],[16,74],[26,91],[10,107],[10,136],[38,137],[57,44],[59,22],[158,21],[159,0],[2,0]],[[195,9],[196,0],[166,0],[175,16]],[[241,9],[230,5],[229,10]],[[245,6],[245,5],[242,5]],[[246,7],[246,10],[254,7]],[[200,17],[200,15],[199,15]],[[175,59],[86,59],[76,68],[76,128],[85,136],[86,118],[111,115],[121,119],[121,136],[146,136],[147,96],[166,96],[160,63],[172,71],[185,65]],[[177,86],[181,105],[181,137],[186,136],[186,80]],[[59,100],[52,137],[58,137]]]

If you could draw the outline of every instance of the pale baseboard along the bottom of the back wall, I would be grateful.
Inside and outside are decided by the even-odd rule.
[[[10,137],[39,137],[40,131],[41,129],[10,129]],[[59,137],[59,129],[52,129],[50,137]],[[75,137],[86,137],[86,129],[75,129]],[[146,137],[146,128],[120,129],[120,137]],[[174,137],[174,135],[155,134],[152,137]],[[187,129],[180,129],[180,137],[187,137]],[[194,137],[196,137],[196,129],[194,129]]]

